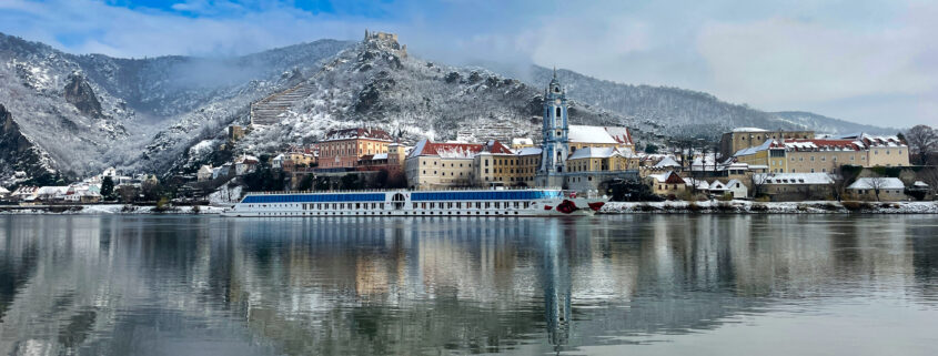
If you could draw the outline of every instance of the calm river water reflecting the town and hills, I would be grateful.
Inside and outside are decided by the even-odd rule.
[[[936,355],[938,216],[0,215],[2,355]]]

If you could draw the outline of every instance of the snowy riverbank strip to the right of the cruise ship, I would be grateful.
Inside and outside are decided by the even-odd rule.
[[[936,202],[609,202],[601,214],[938,214]]]

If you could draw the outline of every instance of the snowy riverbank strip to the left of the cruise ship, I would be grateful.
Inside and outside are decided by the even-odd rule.
[[[221,214],[219,206],[157,206],[124,204],[0,206],[0,214]]]

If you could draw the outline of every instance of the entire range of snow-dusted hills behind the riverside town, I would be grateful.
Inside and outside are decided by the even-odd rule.
[[[8,153],[30,152],[28,160],[8,157],[17,162],[0,165],[0,180],[14,170],[79,177],[110,165],[158,174],[192,169],[222,145],[226,126],[250,122],[252,103],[290,89],[292,94],[269,101],[272,109],[261,108],[273,115],[268,124],[229,153],[272,152],[355,125],[410,142],[457,135],[537,140],[549,75],[535,67],[518,80],[428,62],[409,55],[390,34],[238,58],[152,59],[74,55],[0,34],[0,104],[10,113],[0,144],[10,145]],[[675,88],[563,70],[558,77],[572,99],[573,123],[627,125],[642,142],[654,135],[715,138],[734,126],[895,132],[810,113],[767,113]]]

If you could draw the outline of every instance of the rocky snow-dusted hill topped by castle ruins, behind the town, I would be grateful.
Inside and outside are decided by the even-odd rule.
[[[355,125],[381,128],[410,142],[452,140],[458,133],[481,141],[539,136],[539,85],[424,61],[400,48],[384,38],[343,51],[301,84],[311,94],[296,100],[280,122],[255,129],[239,149],[271,152]],[[576,102],[571,112],[575,123],[627,124],[621,115]]]

